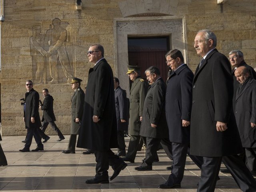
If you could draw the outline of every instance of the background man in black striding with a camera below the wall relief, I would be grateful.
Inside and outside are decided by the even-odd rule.
[[[42,117],[42,131],[44,132],[47,128],[47,126],[50,124],[50,126],[58,133],[59,139],[57,141],[62,141],[65,139],[60,129],[57,127],[57,125],[54,123],[56,121],[56,118],[54,116],[53,112],[53,97],[49,94],[48,89],[43,89],[43,95],[44,95],[44,101],[42,105],[39,106],[40,110],[43,110],[43,117]],[[50,137],[49,137],[50,139]],[[48,139],[47,139],[48,140]]]

